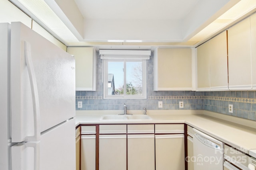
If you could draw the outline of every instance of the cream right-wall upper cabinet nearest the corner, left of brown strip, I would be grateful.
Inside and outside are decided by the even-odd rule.
[[[197,47],[197,90],[228,90],[226,31]]]

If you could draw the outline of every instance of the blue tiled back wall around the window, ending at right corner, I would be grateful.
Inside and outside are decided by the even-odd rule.
[[[97,53],[97,91],[77,91],[76,110],[80,110],[77,101],[83,102],[81,110],[123,110],[124,103],[128,110],[142,110],[144,107],[148,110],[178,110],[179,101],[184,102],[181,109],[204,109],[204,92],[153,91],[153,53],[147,61],[147,99],[103,99],[102,64]],[[163,102],[163,108],[158,108],[158,101]]]

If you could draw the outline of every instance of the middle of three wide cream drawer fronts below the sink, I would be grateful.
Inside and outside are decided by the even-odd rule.
[[[127,125],[127,133],[154,133],[154,124]]]

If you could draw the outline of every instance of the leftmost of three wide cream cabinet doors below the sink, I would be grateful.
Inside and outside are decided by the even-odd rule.
[[[100,135],[99,169],[126,170],[126,135]]]

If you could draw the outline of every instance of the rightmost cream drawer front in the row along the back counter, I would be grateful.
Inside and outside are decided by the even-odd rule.
[[[184,124],[156,124],[155,133],[184,133]]]

